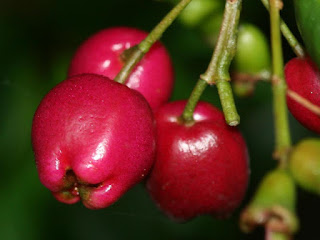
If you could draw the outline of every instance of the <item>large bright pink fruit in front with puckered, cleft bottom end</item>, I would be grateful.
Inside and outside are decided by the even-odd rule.
[[[143,96],[110,79],[83,74],[53,88],[32,125],[40,181],[61,202],[109,206],[150,169],[152,111]]]

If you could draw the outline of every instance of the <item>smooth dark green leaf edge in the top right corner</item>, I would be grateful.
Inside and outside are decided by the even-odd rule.
[[[320,68],[320,1],[294,0],[295,16],[308,54]]]

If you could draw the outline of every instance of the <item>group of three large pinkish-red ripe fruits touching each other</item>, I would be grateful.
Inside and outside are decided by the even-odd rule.
[[[126,53],[146,36],[114,27],[94,34],[76,51],[69,77],[45,96],[34,116],[40,180],[59,201],[81,199],[98,209],[149,175],[147,189],[169,216],[229,215],[248,182],[240,132],[209,103],[198,104],[194,121],[180,118],[186,101],[167,103],[174,75],[160,42],[125,85],[113,81]]]

